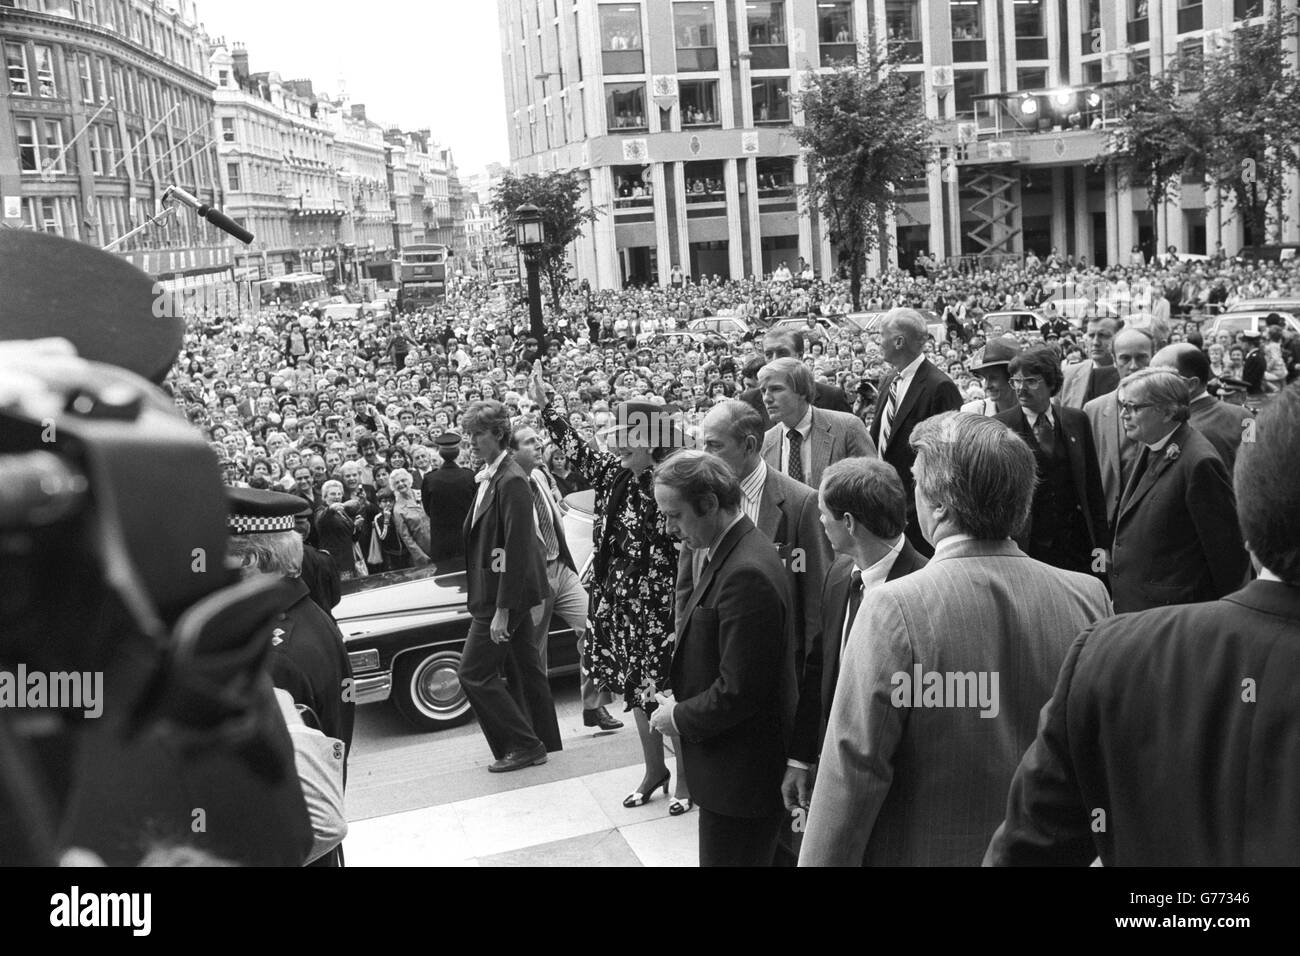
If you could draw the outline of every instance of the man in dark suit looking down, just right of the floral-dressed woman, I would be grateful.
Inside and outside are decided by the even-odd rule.
[[[699,865],[768,866],[794,717],[789,587],[722,459],[679,451],[655,470],[654,497],[699,571],[676,623],[673,696],[656,697],[650,724],[681,740],[699,804]]]

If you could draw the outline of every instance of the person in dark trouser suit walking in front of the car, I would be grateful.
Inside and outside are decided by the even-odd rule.
[[[500,402],[474,402],[462,424],[488,464],[474,476],[478,490],[464,527],[472,620],[458,676],[497,758],[488,770],[507,773],[546,762],[546,744],[528,714],[545,714],[549,708],[554,719],[555,713],[532,641],[550,587],[530,484],[507,447],[510,412]],[[502,674],[508,657],[517,688],[507,687]]]

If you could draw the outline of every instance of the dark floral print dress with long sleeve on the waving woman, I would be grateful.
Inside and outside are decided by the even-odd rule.
[[[619,459],[597,451],[568,420],[547,406],[542,421],[575,471],[595,490],[595,555],[592,579],[592,630],[582,666],[629,709],[641,706],[650,682],[663,687],[672,665],[673,594],[677,542],[654,499],[651,471],[632,476]],[[610,514],[619,486],[621,505]]]

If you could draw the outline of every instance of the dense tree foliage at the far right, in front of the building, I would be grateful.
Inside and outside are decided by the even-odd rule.
[[[1202,179],[1219,199],[1236,199],[1262,241],[1269,209],[1282,220],[1287,172],[1300,169],[1300,74],[1287,55],[1295,36],[1294,14],[1271,17],[1122,87],[1122,125],[1100,163],[1124,187],[1143,183],[1152,208],[1184,177]]]

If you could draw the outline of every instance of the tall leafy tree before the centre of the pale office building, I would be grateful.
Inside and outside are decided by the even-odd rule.
[[[935,156],[935,124],[919,88],[904,82],[894,52],[864,44],[862,53],[861,65],[805,74],[794,98],[803,111],[794,138],[807,151],[805,194],[849,263],[854,308],[866,256],[901,211],[901,187],[924,178]]]

